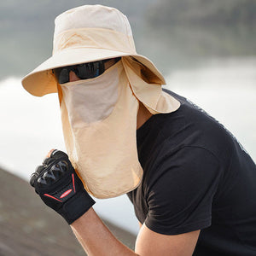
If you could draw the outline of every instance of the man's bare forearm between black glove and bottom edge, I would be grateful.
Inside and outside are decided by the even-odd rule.
[[[113,236],[92,207],[75,220],[71,228],[90,256],[137,255]]]

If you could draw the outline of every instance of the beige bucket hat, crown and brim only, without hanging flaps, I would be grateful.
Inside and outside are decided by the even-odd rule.
[[[137,54],[129,21],[118,9],[98,4],[69,9],[55,18],[52,56],[21,83],[33,96],[44,96],[57,92],[52,69],[118,56],[135,58],[158,84],[166,84],[153,62]]]

